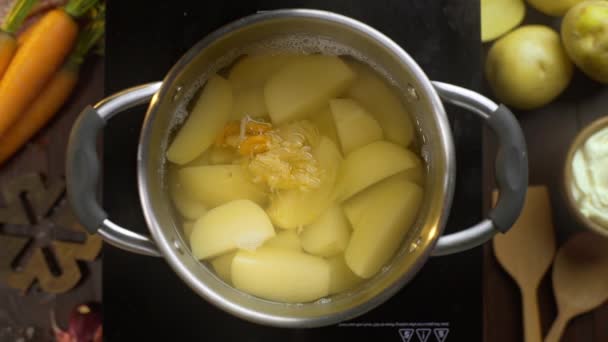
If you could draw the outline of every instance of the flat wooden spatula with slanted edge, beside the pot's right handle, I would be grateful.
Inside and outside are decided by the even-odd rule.
[[[494,194],[496,201],[496,193]],[[544,186],[528,188],[521,216],[506,234],[494,238],[494,254],[520,288],[524,341],[542,340],[538,286],[555,255],[555,232],[549,193]]]

